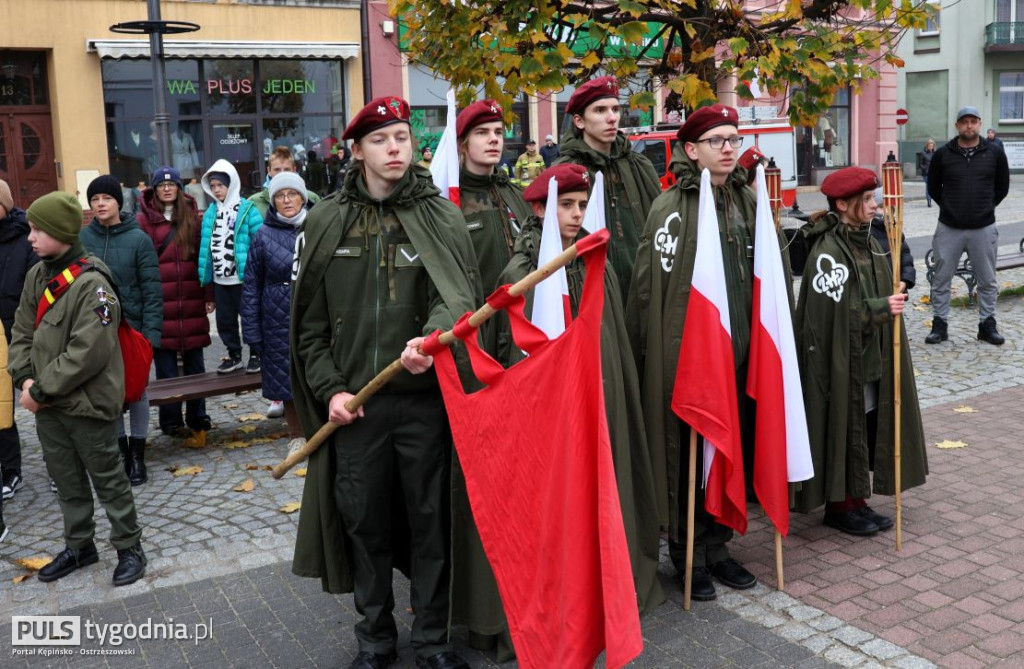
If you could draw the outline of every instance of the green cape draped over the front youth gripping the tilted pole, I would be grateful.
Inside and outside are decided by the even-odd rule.
[[[303,361],[296,358],[296,329],[315,287],[324,280],[335,249],[365,207],[387,206],[394,210],[452,315],[450,327],[482,301],[476,257],[465,220],[455,205],[438,197],[439,191],[430,181],[429,172],[411,168],[384,203],[361,196],[365,183],[361,170],[349,170],[344,187],[309,211],[300,233],[304,236],[304,246],[299,256],[298,277],[292,285],[293,325],[289,341],[292,392],[307,438],[327,422],[327,406],[314,395],[306,381]],[[463,356],[460,358],[465,360]],[[328,592],[351,592],[352,570],[342,519],[334,501],[335,462],[331,455],[329,445],[325,444],[309,456],[292,572],[296,576],[319,578]],[[401,561],[400,556],[396,558]]]

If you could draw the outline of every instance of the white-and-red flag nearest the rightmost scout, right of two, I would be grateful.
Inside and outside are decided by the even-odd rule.
[[[783,537],[790,532],[790,483],[814,476],[807,414],[793,332],[790,282],[768,202],[764,167],[758,166],[754,233],[754,313],[746,393],[757,401],[754,492]]]

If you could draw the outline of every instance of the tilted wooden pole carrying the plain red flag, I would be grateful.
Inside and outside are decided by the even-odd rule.
[[[572,246],[568,247],[560,254],[552,258],[550,261],[546,262],[543,266],[538,267],[537,269],[529,273],[528,275],[526,275],[525,277],[514,283],[512,286],[510,286],[509,294],[512,295],[513,297],[518,297],[519,295],[522,295],[523,293],[529,291],[539,283],[550,277],[559,267],[563,267],[568,263],[572,262],[572,260],[574,260],[575,257],[577,257],[577,246],[575,244],[573,244]],[[474,328],[478,328],[482,323],[484,323],[487,319],[489,319],[497,312],[498,312],[497,309],[492,307],[489,304],[484,303],[483,306],[476,309],[476,311],[474,311],[473,315],[469,317],[469,324]],[[452,334],[451,330],[443,332],[440,335],[440,342],[447,346],[454,344],[457,341],[457,339],[458,338],[454,334]],[[373,379],[371,379],[369,383],[362,386],[362,388],[358,392],[356,392],[351,400],[346,402],[345,409],[349,413],[354,412],[356,409],[366,404],[367,400],[375,395],[378,391],[380,391],[381,388],[387,385],[388,381],[397,376],[398,373],[400,373],[403,369],[406,368],[402,366],[400,359],[393,361],[390,365],[385,367],[380,372],[380,374],[375,376]],[[331,422],[324,423],[324,425],[318,430],[316,430],[316,433],[313,434],[312,438],[306,442],[305,446],[303,446],[295,453],[290,454],[287,458],[285,458],[285,460],[281,464],[274,467],[273,470],[270,472],[271,475],[274,478],[281,478],[282,476],[284,476],[286,473],[288,473],[289,469],[291,469],[298,463],[302,462],[303,460],[308,458],[314,451],[316,451],[316,449],[318,449],[321,445],[325,441],[327,441],[327,438],[331,436],[331,434],[334,433],[334,430],[338,429],[339,427],[341,426],[337,423],[331,423]]]

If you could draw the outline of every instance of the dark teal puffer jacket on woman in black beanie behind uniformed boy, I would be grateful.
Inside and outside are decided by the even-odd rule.
[[[82,246],[110,267],[121,297],[121,312],[154,348],[164,329],[164,289],[153,240],[135,214],[121,212],[121,222],[106,227],[93,218],[82,228]]]

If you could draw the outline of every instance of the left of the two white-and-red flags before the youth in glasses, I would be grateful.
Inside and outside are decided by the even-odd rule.
[[[746,492],[734,361],[722,240],[711,174],[706,169],[700,174],[697,253],[672,410],[705,438],[705,508],[719,522],[742,534],[746,532]]]

